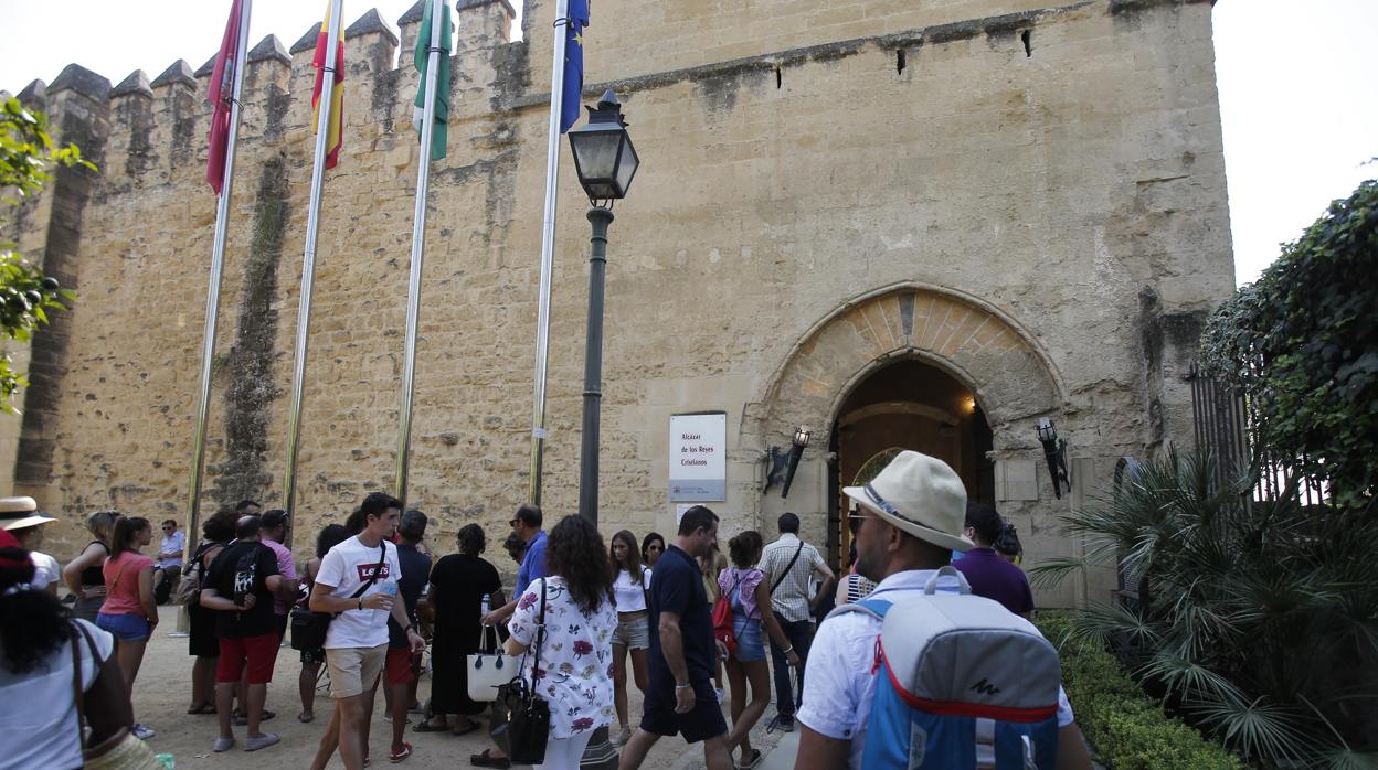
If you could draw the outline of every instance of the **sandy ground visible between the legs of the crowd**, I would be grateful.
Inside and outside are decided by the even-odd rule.
[[[331,698],[321,690],[316,703],[316,722],[303,725],[296,720],[300,711],[300,700],[296,693],[296,676],[300,671],[298,653],[291,647],[278,652],[277,668],[273,683],[269,685],[267,708],[277,712],[277,718],[266,722],[263,729],[282,736],[282,742],[259,751],[245,752],[238,747],[226,753],[211,753],[211,744],[215,741],[215,716],[190,716],[186,708],[192,700],[192,658],[186,654],[185,638],[169,638],[168,634],[176,627],[176,607],[160,607],[158,629],[149,643],[139,671],[139,679],[134,685],[135,718],[139,722],[157,730],[157,736],[149,741],[154,752],[172,753],[176,758],[178,770],[216,767],[216,769],[258,769],[273,767],[274,770],[296,770],[307,767],[316,753],[317,741],[324,729],[325,719],[329,718]],[[422,679],[420,697],[426,698],[430,691],[430,679]],[[641,694],[631,687],[631,714],[641,714]],[[373,756],[372,767],[387,767],[387,753],[391,740],[391,725],[382,719],[383,698],[378,697],[373,715],[371,749]],[[766,719],[752,731],[752,744],[766,751],[780,740],[780,734],[766,736]],[[412,715],[413,722],[418,719]],[[236,727],[236,737],[240,745],[244,742],[244,727]],[[469,767],[469,756],[486,748],[486,738],[482,731],[463,737],[452,737],[437,733],[413,733],[408,726],[407,740],[415,747],[415,753],[400,767]],[[783,759],[783,758],[777,758]],[[792,766],[783,764],[784,767]],[[331,767],[342,767],[336,758]],[[703,767],[703,752],[689,751],[683,741],[678,738],[661,740],[645,767],[655,770],[685,770]]]

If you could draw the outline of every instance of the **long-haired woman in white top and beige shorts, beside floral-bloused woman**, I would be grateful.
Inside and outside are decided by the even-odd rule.
[[[650,612],[646,607],[650,570],[641,563],[635,534],[623,529],[612,536],[608,568],[612,572],[612,594],[617,601],[617,629],[612,635],[612,686],[617,723],[621,725],[612,745],[620,747],[631,738],[631,725],[627,722],[627,653],[631,653],[631,674],[637,689],[645,694],[646,650],[650,647]]]

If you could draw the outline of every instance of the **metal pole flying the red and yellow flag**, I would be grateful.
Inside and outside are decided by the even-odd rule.
[[[325,30],[325,61],[321,62],[321,95],[317,107],[316,153],[311,165],[311,198],[306,211],[306,252],[302,256],[302,298],[296,307],[296,358],[292,362],[292,399],[288,405],[287,471],[282,477],[282,507],[288,517],[296,508],[296,453],[302,439],[302,390],[306,377],[306,337],[311,324],[311,289],[316,282],[316,236],[321,225],[321,187],[325,183],[325,154],[331,136],[331,103],[335,98],[335,66],[339,63],[340,18],[344,0],[331,0],[329,29]],[[343,127],[340,127],[343,131]]]

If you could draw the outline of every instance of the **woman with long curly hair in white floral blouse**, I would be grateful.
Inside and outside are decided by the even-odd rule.
[[[608,664],[617,613],[602,554],[598,528],[565,517],[547,536],[548,577],[526,587],[508,625],[507,653],[524,656],[522,678],[550,703],[546,762],[537,767],[576,770],[594,730],[612,723]]]

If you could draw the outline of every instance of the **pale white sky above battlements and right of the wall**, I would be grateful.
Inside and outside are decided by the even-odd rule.
[[[376,7],[395,29],[413,3],[350,0],[344,17],[353,22]],[[520,11],[521,1],[513,4]],[[219,48],[229,6],[0,0],[0,29],[7,30],[0,90],[18,92],[36,77],[51,83],[72,61],[112,83],[135,69],[152,80],[179,58],[196,69]],[[274,33],[291,45],[320,22],[325,6],[259,0],[249,44]],[[161,21],[145,25],[147,19]],[[593,22],[597,32],[598,19]],[[15,33],[29,29],[41,33]],[[1244,284],[1331,200],[1378,178],[1378,163],[1368,164],[1378,157],[1378,0],[1218,0],[1214,34],[1235,270]]]

